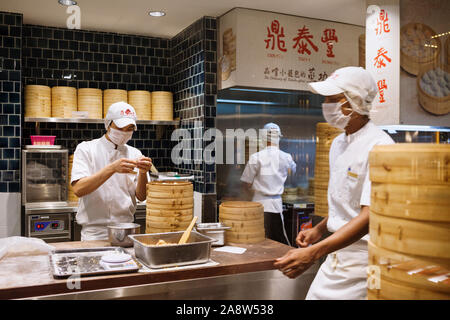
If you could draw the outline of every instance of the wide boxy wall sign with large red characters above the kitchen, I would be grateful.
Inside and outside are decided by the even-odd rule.
[[[220,18],[219,88],[309,90],[334,70],[358,65],[364,28],[236,8]]]

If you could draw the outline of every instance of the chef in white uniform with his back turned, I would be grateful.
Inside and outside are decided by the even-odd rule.
[[[275,123],[264,126],[263,150],[254,153],[245,166],[241,182],[253,191],[252,201],[264,206],[266,237],[289,244],[283,216],[281,195],[289,171],[295,173],[292,156],[279,149],[280,127]]]

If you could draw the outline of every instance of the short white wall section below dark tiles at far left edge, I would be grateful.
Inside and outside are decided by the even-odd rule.
[[[20,193],[0,193],[0,238],[20,236]]]

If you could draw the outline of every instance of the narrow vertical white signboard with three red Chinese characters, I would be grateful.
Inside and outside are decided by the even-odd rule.
[[[372,0],[367,4],[366,69],[378,86],[370,118],[378,125],[399,124],[399,0]]]

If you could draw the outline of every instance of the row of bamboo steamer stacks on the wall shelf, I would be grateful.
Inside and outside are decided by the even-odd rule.
[[[73,87],[25,87],[25,117],[72,118],[73,111],[87,111],[88,118],[105,118],[111,104],[128,102],[138,120],[173,120],[173,95],[168,91],[121,90]]]

